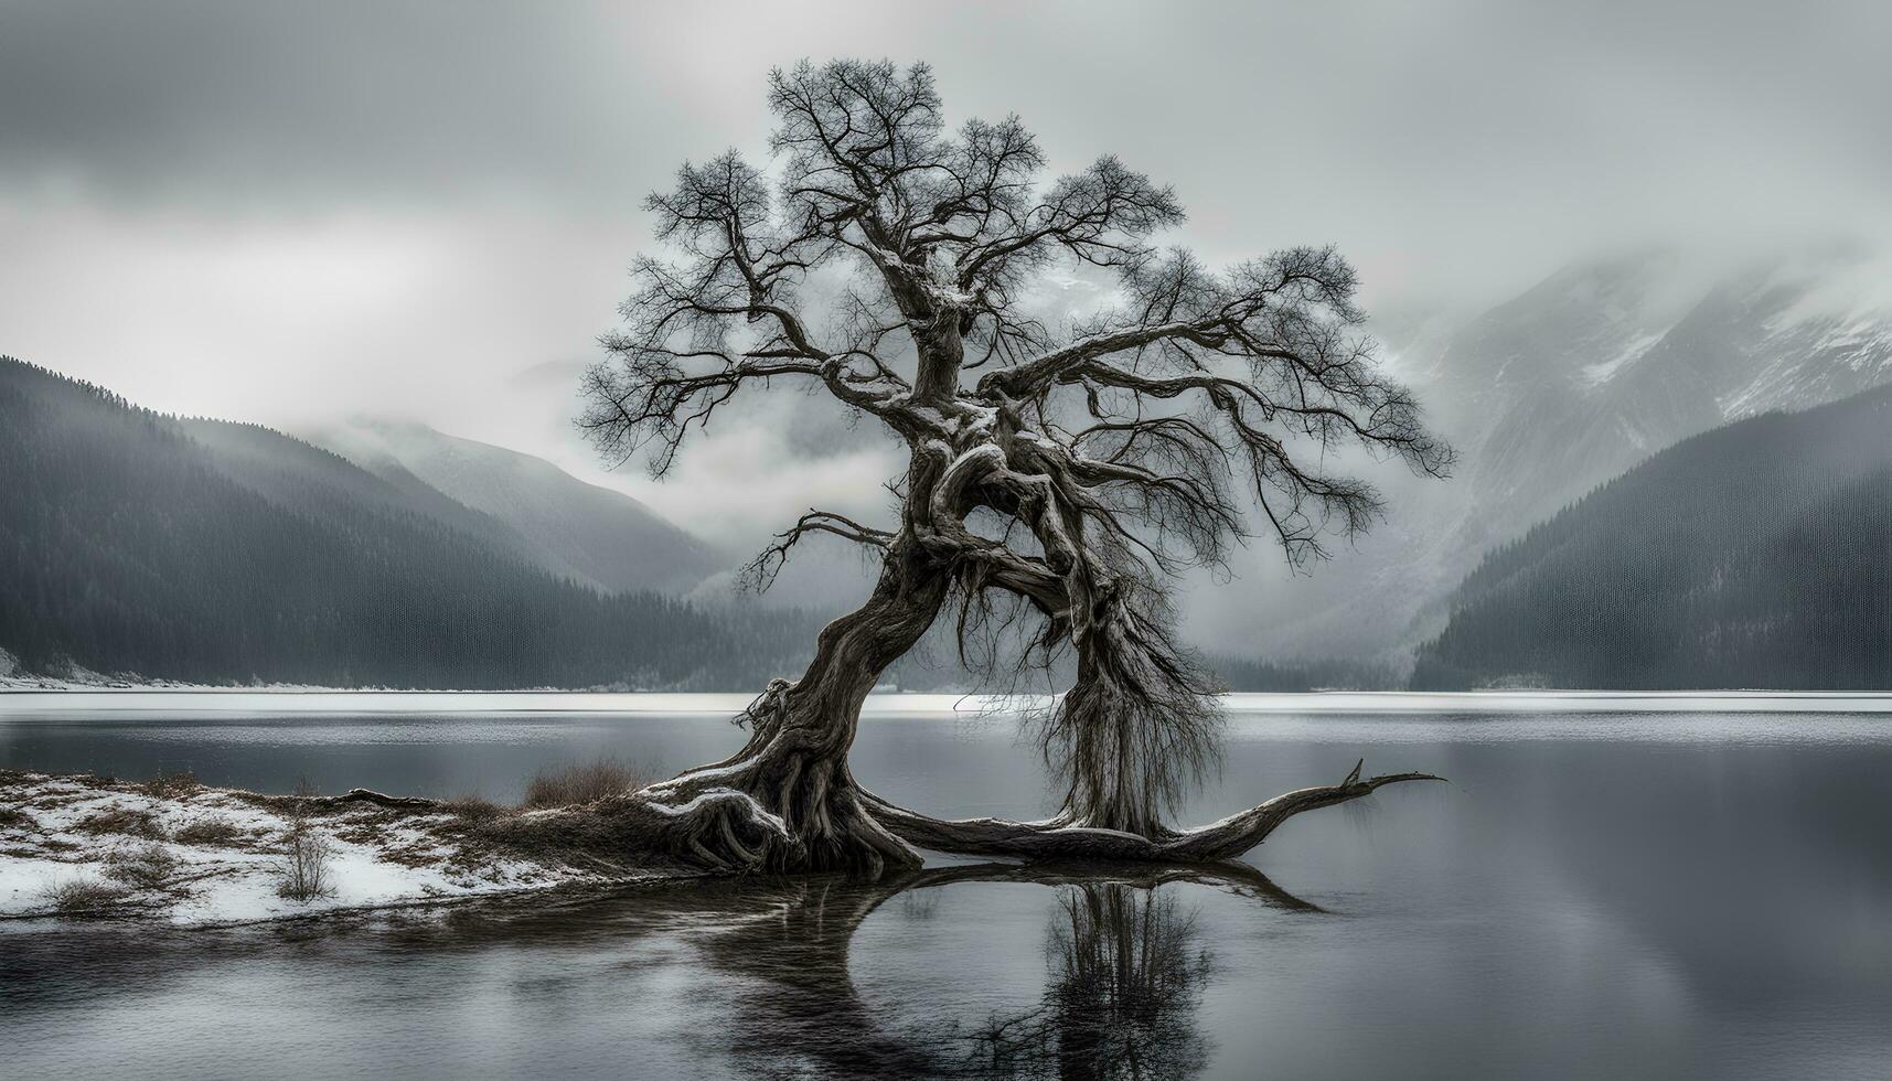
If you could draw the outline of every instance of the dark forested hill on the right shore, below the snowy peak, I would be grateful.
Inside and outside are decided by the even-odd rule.
[[[1892,689],[1892,386],[1684,439],[1489,553],[1417,689]]]

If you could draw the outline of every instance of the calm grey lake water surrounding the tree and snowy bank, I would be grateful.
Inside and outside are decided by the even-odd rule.
[[[872,718],[855,774],[1037,816],[1007,718]],[[30,714],[0,767],[518,793],[713,716]],[[0,931],[0,1075],[1888,1077],[1892,718],[1237,716],[1192,820],[1427,769],[1217,880],[950,865],[346,928]],[[1262,877],[1266,875],[1266,877]]]

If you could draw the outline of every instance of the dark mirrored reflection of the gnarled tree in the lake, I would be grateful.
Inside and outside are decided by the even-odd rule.
[[[933,890],[969,882],[1058,890],[1046,935],[1048,983],[1018,1013],[965,1028],[868,1005],[848,971],[848,948],[884,903],[929,911]],[[753,977],[736,1011],[734,1051],[759,1072],[797,1058],[848,1077],[1188,1077],[1209,1060],[1198,1028],[1211,954],[1196,913],[1165,884],[1196,882],[1273,907],[1319,911],[1247,865],[969,865],[882,882],[778,880],[776,905],[717,933],[717,967]]]

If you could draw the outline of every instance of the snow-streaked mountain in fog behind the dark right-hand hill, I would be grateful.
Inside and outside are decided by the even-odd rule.
[[[1474,513],[1515,530],[1727,420],[1892,381],[1892,293],[1850,250],[1705,276],[1644,252],[1572,265],[1434,362]]]

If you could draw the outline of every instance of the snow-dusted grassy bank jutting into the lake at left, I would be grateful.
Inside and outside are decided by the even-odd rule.
[[[193,784],[0,772],[0,918],[112,914],[182,926],[450,903],[604,877],[477,842],[448,812],[325,805],[305,814],[329,890],[282,894],[297,803]],[[645,875],[647,877],[647,875]],[[61,907],[61,888],[72,892]]]

